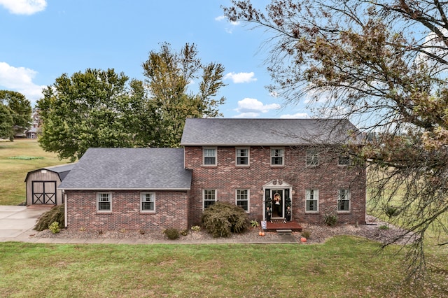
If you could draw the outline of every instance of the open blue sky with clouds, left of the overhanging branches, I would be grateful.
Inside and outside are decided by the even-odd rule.
[[[258,0],[260,7],[269,1]],[[225,118],[304,118],[303,105],[273,97],[261,48],[267,36],[230,23],[228,0],[0,0],[0,89],[34,105],[43,87],[85,69],[123,71],[144,80],[148,52],[195,43],[202,62],[225,67]]]

